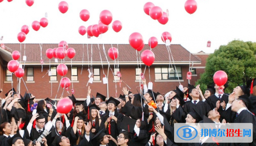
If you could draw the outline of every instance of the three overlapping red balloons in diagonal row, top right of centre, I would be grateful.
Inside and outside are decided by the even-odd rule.
[[[148,2],[144,4],[144,12],[152,19],[157,20],[160,24],[166,24],[169,20],[169,16],[166,12],[155,6],[154,3]]]

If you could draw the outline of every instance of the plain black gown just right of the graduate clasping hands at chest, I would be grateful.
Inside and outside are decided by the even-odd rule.
[[[131,117],[132,119],[141,119],[142,108],[133,106],[133,104],[128,101],[122,108],[122,114],[126,115],[127,117]]]

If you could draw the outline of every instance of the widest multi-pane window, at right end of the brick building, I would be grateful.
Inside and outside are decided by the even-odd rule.
[[[178,80],[178,76],[179,76],[179,79],[182,79],[180,66],[176,66],[176,71],[175,71],[175,68],[172,69],[167,66],[155,67],[156,80]]]

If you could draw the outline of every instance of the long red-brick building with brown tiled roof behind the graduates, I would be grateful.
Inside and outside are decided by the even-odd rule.
[[[28,88],[29,93],[32,93],[36,96],[36,99],[44,99],[47,97],[50,97],[52,99],[55,98],[61,76],[56,73],[56,67],[58,64],[61,63],[61,60],[58,59],[58,63],[55,63],[54,59],[48,59],[45,55],[45,51],[48,48],[56,48],[58,47],[58,44],[42,44],[42,59],[44,60],[44,64],[41,65],[41,49],[39,44],[4,44],[5,49],[0,47],[0,88],[3,90],[2,93],[0,93],[0,97],[4,98],[4,94],[11,89],[13,86],[15,89],[17,88],[17,77],[12,73],[10,73],[7,70],[7,63],[8,61],[12,60],[11,52],[14,50],[17,50],[20,52],[20,59],[18,60],[22,66],[24,67],[25,75],[23,76],[23,80]],[[113,72],[118,71],[118,69],[114,69],[115,62],[108,57],[108,61],[110,61],[110,67],[108,68],[108,62],[105,57],[104,51],[103,51],[103,45],[100,44],[98,47],[98,44],[93,44],[88,46],[86,44],[69,44],[68,47],[72,47],[76,50],[76,56],[72,59],[72,71],[71,71],[71,59],[66,57],[64,60],[62,60],[63,63],[65,63],[68,66],[68,73],[66,77],[68,77],[71,80],[71,74],[72,74],[72,80],[73,88],[75,90],[75,96],[76,98],[86,98],[87,95],[87,82],[89,80],[89,72],[88,68],[91,68],[94,74],[93,83],[89,83],[88,86],[91,87],[92,92],[91,95],[96,95],[97,92],[110,96],[115,96],[116,94],[116,87],[117,87],[117,96],[122,93],[122,88],[120,88],[120,81],[117,76],[115,76],[116,80],[114,79]],[[88,48],[87,48],[88,47]],[[107,56],[108,56],[108,49],[111,47],[110,44],[104,45]],[[117,44],[114,44],[113,47],[117,48]],[[156,48],[152,49],[152,51],[155,54],[155,62],[152,66],[150,66],[150,80],[153,82],[153,91],[158,91],[160,93],[167,93],[173,89],[175,89],[176,86],[179,86],[179,80],[180,83],[185,87],[188,84],[188,80],[186,79],[187,72],[190,67],[192,66],[193,62],[193,68],[192,68],[192,80],[190,80],[190,83],[194,84],[197,79],[200,78],[200,73],[204,72],[206,58],[209,54],[206,54],[204,52],[198,52],[195,54],[192,54],[188,52],[184,47],[181,45],[171,45],[170,46],[172,51],[172,57],[174,60],[174,63],[172,62],[170,65],[170,59],[169,59],[169,53],[166,49],[165,45],[158,45]],[[141,51],[149,49],[148,45],[145,45],[144,49]],[[88,50],[88,52],[87,52]],[[91,52],[92,50],[92,52]],[[116,60],[116,66],[118,64],[119,71],[122,74],[121,77],[121,87],[129,86],[132,91],[132,93],[137,93],[136,89],[139,90],[140,83],[139,74],[144,72],[145,65],[141,62],[137,62],[137,55],[136,51],[128,44],[119,44],[118,45],[118,51],[119,56]],[[140,52],[140,53],[141,53]],[[91,62],[91,54],[92,54],[92,62]],[[24,62],[22,60],[22,56],[26,56],[27,60]],[[102,64],[101,64],[101,59]],[[138,53],[139,57],[139,53]],[[172,58],[171,57],[171,58]],[[139,58],[138,58],[139,59]],[[88,61],[89,60],[89,61]],[[142,69],[138,69],[138,63],[139,68],[141,65]],[[91,66],[92,64],[92,66]],[[171,68],[174,68],[174,64],[176,66],[176,72],[172,70]],[[89,66],[88,66],[89,65]],[[102,69],[103,65],[103,69]],[[170,66],[170,68],[169,68]],[[43,68],[43,69],[42,69]],[[83,70],[82,70],[83,68]],[[169,69],[168,69],[169,68]],[[47,71],[51,70],[52,76],[48,76]],[[104,70],[104,73],[103,73]],[[104,74],[108,77],[108,84],[103,84],[102,78],[104,77]],[[149,70],[148,67],[146,67],[145,71],[145,78],[147,80],[147,83],[149,81]],[[20,91],[21,95],[24,95],[26,91],[25,84],[21,80],[20,83]],[[52,90],[51,90],[52,89]],[[72,85],[70,86],[70,89],[72,89]],[[108,91],[108,92],[107,92]],[[68,96],[68,93],[66,90],[63,90],[61,87],[59,89],[59,92],[57,94],[57,98],[61,96],[63,93],[63,96]],[[71,94],[71,91],[69,91]],[[52,95],[52,96],[51,96]]]

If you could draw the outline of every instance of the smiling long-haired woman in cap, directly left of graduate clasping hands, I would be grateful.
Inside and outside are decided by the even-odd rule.
[[[91,122],[92,123],[92,133],[97,134],[99,129],[103,129],[103,122],[101,122],[100,118],[100,113],[99,110],[100,108],[96,106],[95,104],[92,104],[88,107],[89,112],[86,115],[86,122]]]

